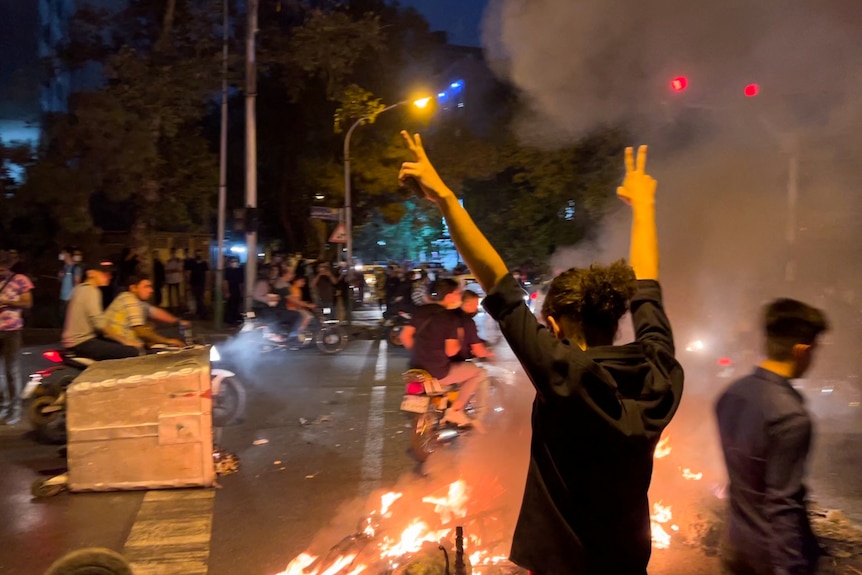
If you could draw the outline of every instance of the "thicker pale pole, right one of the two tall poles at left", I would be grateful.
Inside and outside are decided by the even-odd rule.
[[[255,36],[257,34],[258,0],[248,0],[248,36],[245,61],[245,204],[257,208],[257,68],[255,64]],[[251,311],[251,293],[257,276],[257,230],[246,228],[245,309]]]

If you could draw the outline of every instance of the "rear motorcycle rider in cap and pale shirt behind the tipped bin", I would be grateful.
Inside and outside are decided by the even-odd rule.
[[[100,288],[110,285],[113,272],[114,266],[110,262],[96,261],[85,266],[86,279],[72,290],[66,308],[61,336],[65,350],[97,361],[140,355],[137,347],[105,336],[107,319]]]

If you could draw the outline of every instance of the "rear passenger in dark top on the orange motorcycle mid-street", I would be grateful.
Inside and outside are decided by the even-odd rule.
[[[478,365],[455,360],[461,352],[458,338],[461,323],[453,310],[461,306],[461,287],[453,279],[439,279],[434,283],[434,295],[434,303],[419,307],[401,332],[404,347],[412,352],[410,367],[424,369],[442,386],[461,384],[457,399],[443,414],[443,421],[472,425],[482,432],[481,418],[471,419],[464,407],[478,390],[487,388],[487,374]],[[479,401],[484,399],[482,395],[477,397]]]

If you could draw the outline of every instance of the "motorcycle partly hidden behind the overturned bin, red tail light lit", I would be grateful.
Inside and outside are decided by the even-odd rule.
[[[188,341],[188,338],[187,338]],[[189,349],[192,346],[187,346]],[[194,346],[203,347],[203,346]],[[157,347],[154,353],[178,351],[167,346]],[[215,346],[209,348],[210,365],[217,364],[221,356]],[[66,388],[96,360],[79,357],[65,350],[48,350],[42,354],[55,364],[30,374],[21,396],[27,403],[27,418],[36,437],[47,443],[64,443],[66,440]],[[241,420],[245,413],[246,392],[232,371],[210,369],[212,380],[213,427],[224,427]]]

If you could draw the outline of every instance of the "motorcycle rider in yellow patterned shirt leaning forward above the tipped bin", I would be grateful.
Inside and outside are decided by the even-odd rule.
[[[105,310],[105,336],[142,351],[155,344],[184,347],[182,340],[159,335],[147,320],[186,327],[190,323],[147,303],[153,295],[153,282],[148,276],[132,275],[128,281],[128,290],[115,297]]]

